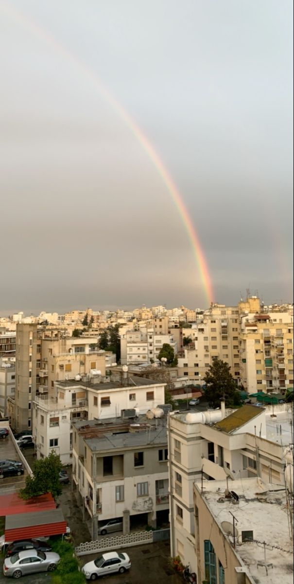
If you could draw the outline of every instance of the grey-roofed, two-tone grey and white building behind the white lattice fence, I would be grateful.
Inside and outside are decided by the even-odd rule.
[[[164,419],[75,422],[72,432],[72,477],[92,519],[94,540],[105,520],[121,517],[124,533],[134,517],[153,527],[168,520]]]

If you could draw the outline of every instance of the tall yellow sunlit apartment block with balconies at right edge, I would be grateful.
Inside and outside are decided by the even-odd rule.
[[[285,392],[293,387],[293,315],[241,316],[240,379],[249,394]]]

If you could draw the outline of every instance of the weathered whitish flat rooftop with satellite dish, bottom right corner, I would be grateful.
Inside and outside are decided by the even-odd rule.
[[[199,482],[196,485],[201,491]],[[220,530],[224,531],[223,522],[232,524],[230,512],[236,518],[238,537],[235,551],[247,567],[252,582],[292,584],[293,543],[289,534],[285,489],[275,490],[274,485],[263,484],[256,478],[229,479],[229,489],[239,496],[239,505],[233,505],[227,499],[225,503],[218,502],[225,493],[226,481],[205,481],[204,486],[204,500]],[[250,530],[254,541],[242,543],[242,531]],[[226,537],[232,544],[232,536]],[[264,561],[264,542],[266,561],[273,565],[273,568],[268,568],[268,576],[264,566],[257,568],[257,562]]]

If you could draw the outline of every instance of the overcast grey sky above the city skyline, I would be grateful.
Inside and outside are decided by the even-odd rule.
[[[0,314],[292,301],[292,2],[0,0]],[[89,71],[93,74],[89,75]]]

